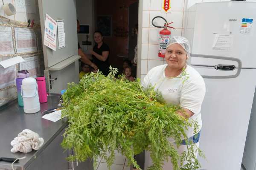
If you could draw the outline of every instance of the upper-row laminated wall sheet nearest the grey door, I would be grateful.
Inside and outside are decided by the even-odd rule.
[[[37,51],[35,31],[29,28],[14,28],[17,53]]]

